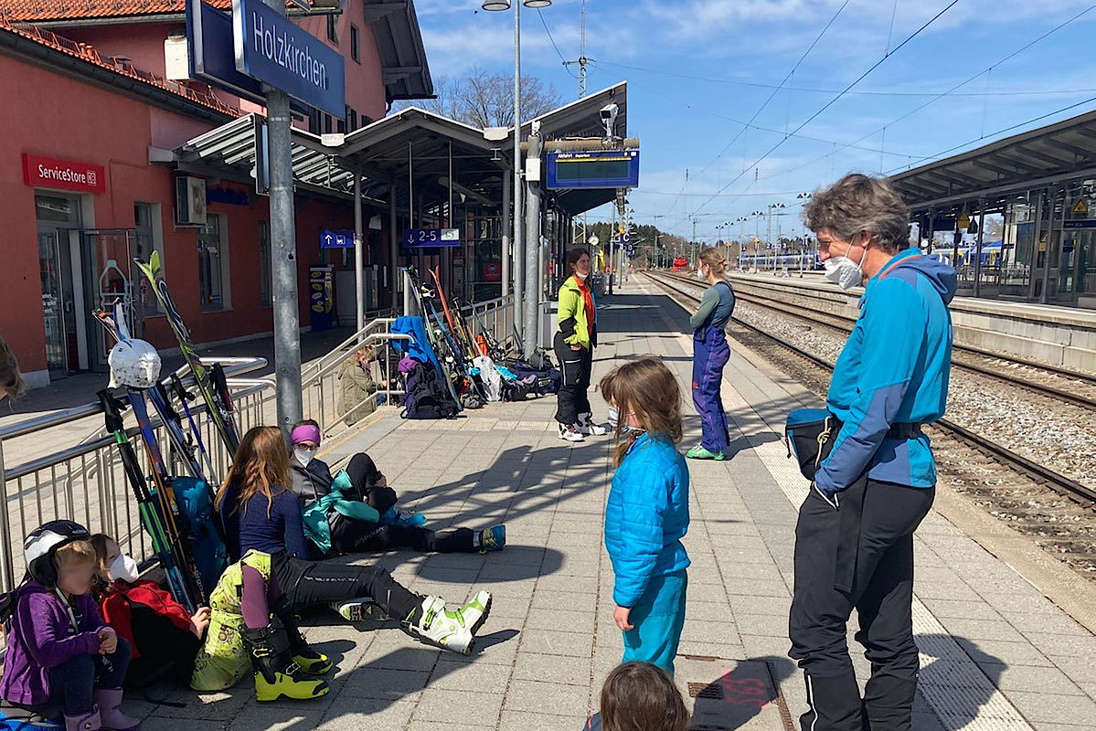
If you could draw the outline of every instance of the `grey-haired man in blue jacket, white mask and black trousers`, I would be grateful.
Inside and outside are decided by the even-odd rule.
[[[881,179],[850,174],[804,213],[826,278],[865,286],[826,407],[842,426],[796,526],[791,656],[807,678],[810,731],[909,731],[917,688],[913,532],[932,507],[936,464],[922,424],[944,415],[956,274],[907,249],[909,209]],[[846,643],[871,662],[861,699]]]

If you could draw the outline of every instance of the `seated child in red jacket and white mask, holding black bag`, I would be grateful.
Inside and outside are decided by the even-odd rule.
[[[155,581],[138,579],[137,562],[113,538],[99,533],[89,542],[99,561],[99,610],[133,648],[125,687],[140,688],[162,677],[189,685],[209,626],[209,607],[191,616]]]

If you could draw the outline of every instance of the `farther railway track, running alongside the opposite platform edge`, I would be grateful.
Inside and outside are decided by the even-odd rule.
[[[669,274],[667,276],[688,287],[703,289],[707,286],[694,278],[674,274]],[[841,332],[843,335],[852,332],[853,325],[856,323],[855,318],[844,315],[831,312],[811,312],[810,315],[804,315],[801,308],[781,302],[773,297],[741,292],[741,289],[735,289],[734,296],[740,301],[776,310],[811,324],[821,324]],[[1085,409],[1096,409],[1096,376],[1019,357],[1003,357],[1000,354],[967,345],[952,345],[951,352],[951,364],[963,370],[977,373],[980,376],[1003,381],[1015,388],[1023,388],[1048,396],[1065,403],[1072,403]],[[1016,375],[1008,373],[1008,370],[1015,370],[1017,367],[1024,369],[1023,375],[1025,379],[1017,378]],[[1066,382],[1061,384],[1062,380]],[[1059,381],[1059,384],[1055,385],[1052,381]],[[1062,388],[1062,386],[1068,386],[1070,390]]]

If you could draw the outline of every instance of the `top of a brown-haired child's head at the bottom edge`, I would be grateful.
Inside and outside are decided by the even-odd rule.
[[[602,686],[602,711],[583,731],[686,731],[688,710],[673,678],[646,662],[617,665]]]

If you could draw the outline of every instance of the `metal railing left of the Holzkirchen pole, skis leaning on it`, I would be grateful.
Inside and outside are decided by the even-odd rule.
[[[265,358],[203,358],[203,362],[216,362],[225,367],[241,433],[269,423],[265,407],[273,401],[273,381],[238,377],[264,367]],[[183,368],[176,374],[183,377]],[[194,384],[193,377],[184,377],[183,381]],[[191,413],[217,470],[217,475],[207,477],[218,480],[230,464],[228,449],[208,418],[206,404],[197,402],[191,406]],[[114,435],[103,426],[72,446],[58,448],[56,444],[67,438],[65,431],[58,427],[95,414],[102,414],[102,407],[89,403],[0,427],[0,481],[4,486],[4,504],[0,507],[0,547],[3,548],[0,556],[0,592],[13,589],[23,575],[22,570],[16,571],[16,567],[22,564],[23,536],[47,521],[67,518],[87,526],[92,533],[106,533],[138,561],[151,555]],[[127,423],[133,423],[132,410],[126,412],[126,418]],[[171,472],[185,473],[181,455],[167,448],[169,438],[159,419],[153,416],[151,423],[158,443],[164,447],[163,456],[169,460]],[[126,433],[134,442],[142,472],[151,473],[139,430],[127,425]],[[12,444],[21,437],[46,445],[43,448],[46,454],[19,465],[5,464],[4,444]]]

